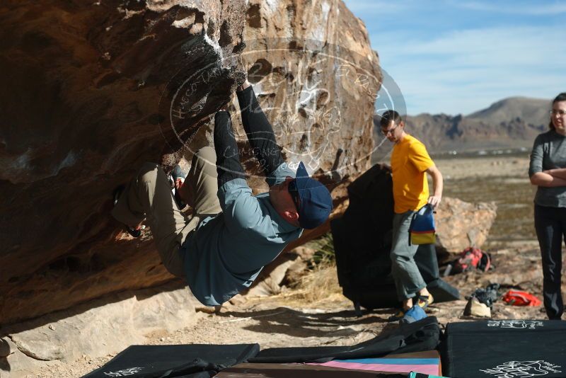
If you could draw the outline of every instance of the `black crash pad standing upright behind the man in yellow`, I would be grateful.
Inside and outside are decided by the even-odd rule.
[[[366,309],[397,307],[389,257],[393,231],[391,173],[379,165],[369,168],[350,184],[348,197],[350,205],[345,213],[330,222],[342,292]],[[440,278],[434,246],[419,246],[415,263],[434,302],[460,299],[456,287]]]

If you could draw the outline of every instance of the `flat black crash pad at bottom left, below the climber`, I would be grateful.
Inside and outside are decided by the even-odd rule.
[[[259,344],[132,345],[83,378],[213,377],[259,350]]]

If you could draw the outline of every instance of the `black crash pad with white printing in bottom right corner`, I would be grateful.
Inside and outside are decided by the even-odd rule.
[[[447,377],[566,377],[566,322],[449,323],[441,360]]]

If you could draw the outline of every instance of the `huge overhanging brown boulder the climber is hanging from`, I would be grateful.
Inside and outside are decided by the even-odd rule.
[[[1,8],[0,323],[172,279],[151,232],[131,239],[110,218],[112,189],[208,144],[245,70],[287,159],[308,161],[337,204],[369,163],[381,76],[342,1]]]

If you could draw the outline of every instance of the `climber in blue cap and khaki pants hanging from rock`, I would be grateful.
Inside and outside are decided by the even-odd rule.
[[[112,210],[134,236],[145,218],[163,265],[185,277],[195,297],[208,306],[250,287],[303,229],[326,222],[333,206],[328,189],[308,176],[302,162],[294,171],[283,160],[247,80],[236,94],[248,141],[267,176],[268,193],[252,195],[224,107],[214,118],[214,149],[197,151],[186,177],[180,168],[173,170],[178,195],[173,195],[166,173],[146,163],[116,192]],[[189,219],[180,212],[179,200],[192,207]]]

